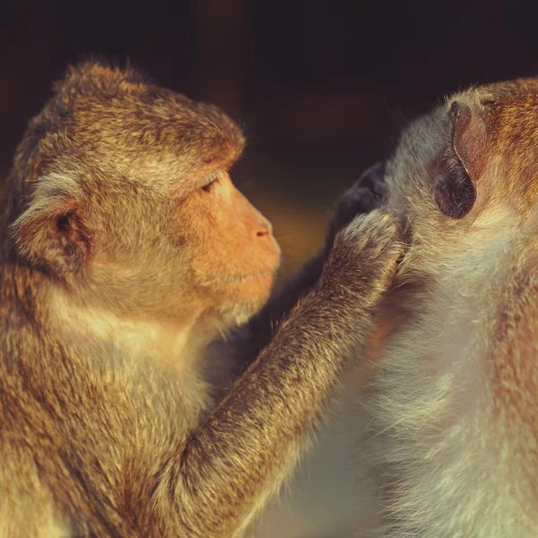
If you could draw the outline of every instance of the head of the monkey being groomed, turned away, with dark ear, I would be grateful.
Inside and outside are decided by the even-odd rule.
[[[537,118],[538,81],[527,79],[458,93],[404,131],[386,162],[388,205],[408,238],[428,246],[408,256],[428,264],[481,237],[533,233]]]

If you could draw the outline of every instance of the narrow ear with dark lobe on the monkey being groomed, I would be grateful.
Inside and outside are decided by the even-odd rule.
[[[438,208],[452,219],[461,219],[473,209],[476,201],[474,176],[478,173],[479,138],[473,124],[471,108],[454,101],[448,117],[451,124],[450,145],[445,155],[444,170],[437,178],[434,193]]]

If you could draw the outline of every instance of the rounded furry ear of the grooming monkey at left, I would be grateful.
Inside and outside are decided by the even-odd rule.
[[[90,256],[91,234],[76,204],[32,204],[13,223],[19,254],[62,277],[76,273]]]

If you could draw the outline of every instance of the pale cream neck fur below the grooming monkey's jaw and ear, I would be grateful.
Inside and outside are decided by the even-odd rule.
[[[173,321],[119,317],[83,304],[65,286],[17,260],[0,262],[0,292],[13,323],[31,317],[30,325],[47,327],[48,337],[65,349],[92,357],[108,356],[112,349],[126,360],[143,357],[183,370],[204,359],[205,348],[221,331],[213,317],[195,314]]]

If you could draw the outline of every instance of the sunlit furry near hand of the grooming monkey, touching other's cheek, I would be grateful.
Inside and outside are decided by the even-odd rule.
[[[394,281],[404,249],[402,230],[391,214],[360,215],[336,235],[320,288],[334,294],[351,291],[365,301],[363,306],[374,306]]]

